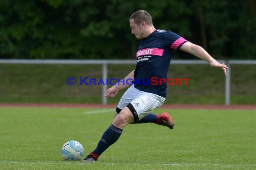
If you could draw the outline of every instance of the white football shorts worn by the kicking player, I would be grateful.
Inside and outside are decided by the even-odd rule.
[[[139,89],[136,89],[134,85],[132,85],[123,94],[117,107],[119,109],[124,109],[125,106],[131,103],[137,112],[138,120],[140,120],[151,111],[160,107],[164,101],[165,98],[162,96],[154,93],[143,92]]]

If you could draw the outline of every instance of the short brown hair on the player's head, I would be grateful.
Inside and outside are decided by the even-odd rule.
[[[134,22],[139,25],[141,22],[146,22],[149,26],[153,25],[152,17],[145,10],[138,10],[133,13],[129,20],[134,19]]]

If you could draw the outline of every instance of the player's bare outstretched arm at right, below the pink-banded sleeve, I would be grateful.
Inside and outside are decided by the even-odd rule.
[[[194,56],[197,56],[200,59],[203,59],[209,62],[212,67],[221,68],[224,71],[224,74],[227,75],[226,69],[228,67],[224,63],[221,64],[218,61],[216,61],[214,58],[212,58],[212,56],[209,55],[207,51],[205,51],[202,47],[190,42],[186,42],[180,47],[180,50],[190,53]]]

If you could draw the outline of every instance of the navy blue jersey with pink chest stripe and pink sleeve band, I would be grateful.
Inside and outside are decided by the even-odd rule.
[[[134,87],[149,93],[166,97],[167,83],[152,85],[152,77],[167,79],[172,53],[187,42],[172,31],[155,30],[141,40],[137,51],[137,65],[134,71]]]

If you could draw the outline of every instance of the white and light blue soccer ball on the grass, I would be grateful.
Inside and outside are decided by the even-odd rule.
[[[82,160],[84,147],[78,141],[70,140],[62,146],[62,157],[64,160]]]

